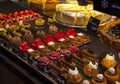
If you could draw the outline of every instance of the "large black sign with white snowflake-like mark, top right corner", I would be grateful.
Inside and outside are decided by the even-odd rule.
[[[120,17],[120,0],[94,0],[93,8]]]

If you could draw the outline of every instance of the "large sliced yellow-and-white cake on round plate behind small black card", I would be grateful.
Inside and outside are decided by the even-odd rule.
[[[86,6],[58,4],[54,18],[63,25],[86,26],[91,16],[99,19],[101,23],[105,23],[111,19],[110,15],[93,10],[93,4]]]

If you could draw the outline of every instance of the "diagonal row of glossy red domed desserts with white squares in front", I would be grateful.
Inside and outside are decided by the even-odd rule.
[[[76,36],[80,36],[81,38],[82,37],[84,38],[86,35],[83,33],[77,33],[74,29],[70,28],[66,32],[66,35],[62,31],[59,31],[56,33],[55,38],[52,35],[47,35],[44,41],[42,41],[40,38],[34,39],[34,42],[32,43],[32,48],[37,50],[38,48],[44,48],[46,45],[50,46],[56,44],[57,42],[64,42],[68,38],[72,40],[73,38],[76,38]],[[24,44],[24,42],[21,43],[20,46],[21,52],[25,52],[26,49],[28,50],[28,48],[30,47],[27,44]]]

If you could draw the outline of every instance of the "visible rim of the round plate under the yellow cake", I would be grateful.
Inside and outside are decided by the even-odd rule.
[[[107,24],[107,23],[110,22],[110,21],[114,21],[115,18],[116,18],[115,16],[111,16],[111,18],[109,19],[109,21],[104,22],[104,23],[101,23],[101,24],[99,25],[99,27],[104,26],[105,24]],[[53,19],[56,21],[56,23],[59,23],[59,24],[64,25],[64,26],[74,27],[74,28],[81,28],[81,29],[86,28],[86,25],[71,25],[71,24],[63,23],[62,21],[59,21],[59,20],[56,19],[56,14],[53,15]]]

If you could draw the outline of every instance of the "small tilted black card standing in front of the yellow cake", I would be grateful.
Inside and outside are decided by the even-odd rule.
[[[90,32],[96,33],[98,30],[99,24],[100,24],[100,20],[91,16],[90,20],[88,21],[87,30]]]

